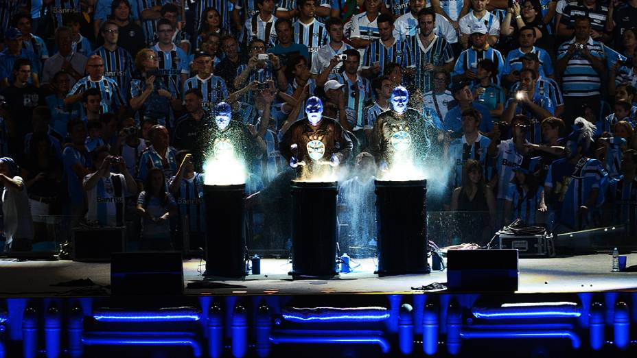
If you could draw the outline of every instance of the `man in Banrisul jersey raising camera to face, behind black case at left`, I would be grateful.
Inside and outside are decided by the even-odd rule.
[[[93,173],[82,181],[89,211],[86,219],[101,226],[124,226],[124,208],[127,195],[137,194],[137,184],[121,156],[108,154],[108,147],[97,147],[91,152]],[[111,172],[116,167],[121,174]]]

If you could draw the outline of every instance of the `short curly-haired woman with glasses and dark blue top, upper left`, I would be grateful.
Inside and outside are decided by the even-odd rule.
[[[143,119],[154,119],[162,126],[174,126],[174,112],[181,101],[158,72],[159,57],[152,49],[142,49],[135,56],[141,78],[130,81],[130,108],[139,110]]]

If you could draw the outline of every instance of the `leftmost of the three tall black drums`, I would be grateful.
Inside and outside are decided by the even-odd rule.
[[[245,276],[245,197],[246,184],[204,186],[208,228],[205,276]]]

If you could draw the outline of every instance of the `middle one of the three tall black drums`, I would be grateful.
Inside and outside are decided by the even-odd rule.
[[[292,181],[292,276],[336,274],[336,182]]]

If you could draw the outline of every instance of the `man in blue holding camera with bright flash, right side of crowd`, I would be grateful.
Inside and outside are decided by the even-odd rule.
[[[514,115],[525,115],[531,119],[531,128],[526,132],[526,139],[531,143],[542,143],[540,123],[555,114],[553,102],[548,97],[535,92],[537,73],[532,69],[520,71],[520,88],[507,101],[507,108],[502,112],[502,121],[510,122]]]

